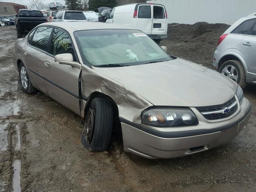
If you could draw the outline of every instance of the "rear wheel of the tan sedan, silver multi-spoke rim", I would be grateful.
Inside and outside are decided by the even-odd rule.
[[[33,93],[37,91],[37,89],[34,88],[31,84],[27,69],[22,62],[20,63],[19,67],[19,77],[22,91],[24,91],[25,93]]]

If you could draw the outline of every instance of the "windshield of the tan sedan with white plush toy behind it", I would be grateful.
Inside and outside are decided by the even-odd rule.
[[[90,66],[133,66],[172,60],[139,30],[84,30],[74,35],[83,62]]]

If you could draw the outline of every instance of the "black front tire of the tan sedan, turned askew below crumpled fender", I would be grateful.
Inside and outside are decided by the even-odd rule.
[[[94,118],[90,118],[93,115]],[[91,123],[90,123],[91,120]],[[92,125],[90,132],[87,127]],[[81,142],[89,151],[100,152],[107,150],[113,128],[112,103],[104,98],[94,98],[86,111],[84,129],[81,135]],[[91,134],[91,137],[88,135]]]

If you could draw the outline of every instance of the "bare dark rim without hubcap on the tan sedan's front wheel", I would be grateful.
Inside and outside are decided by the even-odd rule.
[[[84,124],[85,139],[88,144],[92,142],[92,137],[94,133],[94,116],[94,110],[90,109],[88,118],[86,119],[86,122]]]

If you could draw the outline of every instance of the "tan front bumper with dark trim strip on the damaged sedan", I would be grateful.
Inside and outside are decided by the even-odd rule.
[[[212,129],[159,132],[120,118],[124,151],[145,158],[176,158],[195,154],[232,140],[246,126],[250,115],[251,104],[244,98],[236,114],[239,117],[237,120],[232,118],[227,120],[226,126]]]

